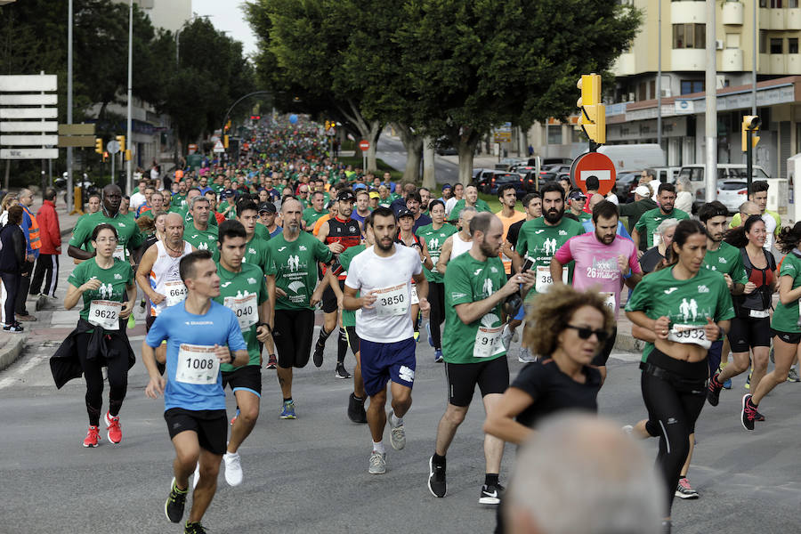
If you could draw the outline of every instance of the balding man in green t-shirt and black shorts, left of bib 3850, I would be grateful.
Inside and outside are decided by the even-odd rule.
[[[317,263],[329,263],[332,243],[326,247],[312,234],[301,231],[303,207],[295,198],[286,198],[281,205],[284,230],[267,242],[270,267],[267,289],[272,310],[272,338],[278,350],[276,370],[283,405],[280,417],[295,419],[292,399],[292,368],[304,368],[312,352],[314,306],[320,302],[322,289],[317,284]]]

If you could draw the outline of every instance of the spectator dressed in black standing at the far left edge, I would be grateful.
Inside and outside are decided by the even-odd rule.
[[[7,196],[7,195],[6,195]],[[7,212],[8,223],[0,230],[0,280],[3,292],[0,296],[0,320],[6,332],[21,332],[20,323],[14,318],[14,306],[20,290],[22,268],[25,265],[25,234],[22,233],[22,207],[11,206]]]

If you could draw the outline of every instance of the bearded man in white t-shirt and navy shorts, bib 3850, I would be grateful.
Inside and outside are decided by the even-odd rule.
[[[371,228],[375,245],[353,258],[344,283],[343,305],[356,310],[360,339],[361,376],[370,397],[367,412],[373,440],[370,474],[386,472],[384,426],[390,424],[392,449],[406,446],[403,416],[411,407],[415,381],[415,338],[412,328],[411,287],[417,284],[420,311],[428,315],[428,282],[414,248],[394,243],[398,221],[388,207],[377,207]],[[360,294],[361,296],[357,296]],[[392,381],[392,409],[384,415],[386,384]]]

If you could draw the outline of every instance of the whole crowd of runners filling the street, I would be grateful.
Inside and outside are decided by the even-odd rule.
[[[164,396],[175,449],[165,514],[185,532],[205,531],[221,465],[228,484],[243,481],[239,447],[262,408],[303,418],[293,371],[310,359],[321,368],[335,333],[331,367],[352,379],[343,409],[368,425],[368,473],[391,465],[385,435],[404,449],[417,357],[430,357],[443,363],[448,403],[431,430],[428,490],[447,494],[449,446],[478,386],[486,412],[479,502],[497,506],[506,442],[529,440],[556,412],[597,411],[623,308],[632,335],[646,342],[648,413],[624,430],[659,438],[663,531],[675,497],[699,497],[687,473],[705,401],[717,406],[731,378],[748,372],[740,420],[753,431],[765,420],[765,395],[795,372],[801,223],[781,228],[765,209],[765,182],[754,182],[731,223],[719,202],[692,219],[674,207],[674,186],[648,173],[626,205],[592,194],[589,179],[589,196],[546,183],[520,211],[514,187],[501,187],[493,214],[473,185],[445,184],[437,198],[389,173],[341,165],[327,147],[314,125],[271,123],[239,158],[142,180],[130,197],[106,186],[69,240],[78,264],[64,304],[83,305],[51,360],[56,384],[84,376],[84,447],[120,443],[135,360],[125,330],[134,307],[146,308],[146,393]],[[778,266],[774,247],[785,254]],[[513,377],[507,352],[521,334],[517,358],[527,365]],[[431,352],[417,348],[426,338]],[[262,368],[275,369],[280,406],[261,405]],[[504,518],[499,511],[498,532]]]

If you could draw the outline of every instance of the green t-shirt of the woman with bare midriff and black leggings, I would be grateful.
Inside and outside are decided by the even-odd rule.
[[[734,317],[732,295],[722,274],[701,269],[692,279],[677,280],[674,269],[646,275],[628,299],[626,311],[644,312],[653,320],[665,316],[671,328],[674,324],[703,326],[708,317],[715,322]],[[649,345],[643,351],[643,361],[653,350],[653,344]]]

